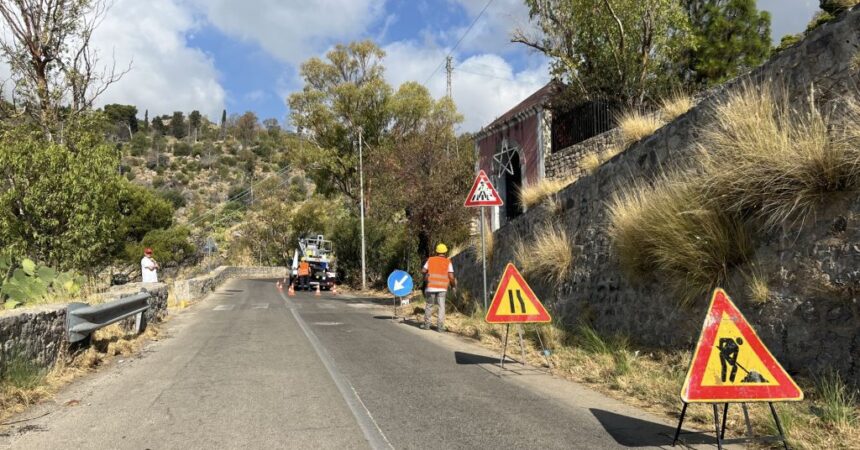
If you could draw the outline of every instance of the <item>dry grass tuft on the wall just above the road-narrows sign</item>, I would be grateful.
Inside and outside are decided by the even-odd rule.
[[[559,225],[544,225],[528,243],[514,244],[514,258],[523,270],[555,285],[570,277],[573,269],[573,243]]]

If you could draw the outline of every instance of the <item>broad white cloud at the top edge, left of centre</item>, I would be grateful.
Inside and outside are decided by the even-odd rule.
[[[222,32],[299,64],[331,42],[358,37],[385,12],[384,0],[192,0]]]

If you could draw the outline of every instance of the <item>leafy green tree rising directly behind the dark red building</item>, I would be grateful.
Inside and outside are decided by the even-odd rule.
[[[574,100],[606,98],[628,106],[677,83],[667,69],[691,44],[677,0],[526,0],[540,34],[516,30],[513,42],[552,60],[552,74]]]

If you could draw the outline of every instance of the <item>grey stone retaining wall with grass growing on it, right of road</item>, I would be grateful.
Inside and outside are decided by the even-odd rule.
[[[857,98],[860,72],[851,61],[859,50],[860,8],[855,8],[813,30],[750,77],[770,80],[789,98],[806,99],[811,87],[821,101]],[[688,113],[562,190],[557,215],[535,207],[496,231],[495,254],[488,267],[490,288],[513,260],[512,244],[552,223],[567,230],[574,241],[574,269],[569,281],[558,287],[529,282],[557,318],[571,327],[584,321],[604,334],[625,334],[644,346],[691,348],[702,326],[706,299],[678,307],[660,280],[628,279],[610,247],[606,203],[621,188],[654,180],[667,169],[688,163],[696,151],[698,130],[712,120],[710,111],[741,82],[716,90]],[[758,244],[755,260],[770,288],[769,300],[755,303],[748,298],[740,270],[724,287],[765,344],[791,372],[809,375],[832,367],[860,385],[860,195],[834,195],[801,229],[766,236]],[[481,265],[472,252],[458,255],[454,267],[461,286],[480,298]]]

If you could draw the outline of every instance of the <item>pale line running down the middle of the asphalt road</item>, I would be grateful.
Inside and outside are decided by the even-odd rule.
[[[343,400],[352,412],[353,417],[355,417],[355,421],[358,422],[358,427],[361,428],[361,432],[364,433],[364,438],[374,449],[394,449],[394,446],[391,445],[391,442],[389,442],[388,438],[385,437],[385,433],[383,433],[382,429],[379,428],[379,424],[376,423],[373,415],[370,414],[370,410],[367,409],[367,406],[361,400],[361,397],[358,395],[358,391],[355,390],[352,383],[350,383],[349,380],[347,380],[346,377],[344,377],[337,369],[334,359],[329,355],[325,347],[323,347],[316,334],[314,334],[310,327],[308,327],[305,320],[299,315],[293,302],[285,297],[283,292],[279,292],[279,294],[289,307],[288,309],[296,320],[296,323],[299,324],[299,328],[302,329],[305,337],[308,338],[311,347],[314,348],[317,356],[319,356],[320,361],[322,361],[323,366],[325,366],[326,371],[328,371],[329,377],[331,377],[335,386],[337,386],[337,390],[340,391],[341,397],[343,397]]]

